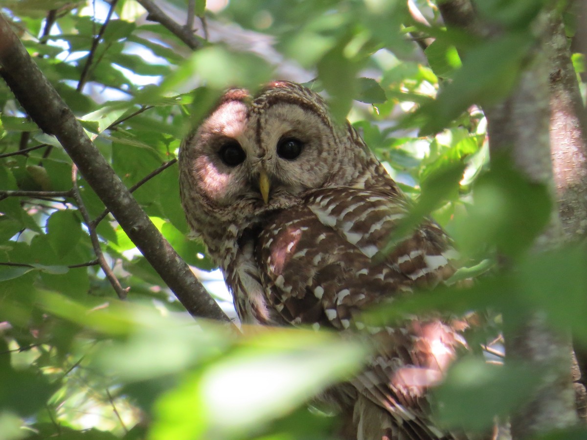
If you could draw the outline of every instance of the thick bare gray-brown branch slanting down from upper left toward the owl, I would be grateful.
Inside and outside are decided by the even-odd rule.
[[[43,131],[57,137],[83,177],[188,312],[230,322],[141,210],[1,14],[0,66],[16,99]]]

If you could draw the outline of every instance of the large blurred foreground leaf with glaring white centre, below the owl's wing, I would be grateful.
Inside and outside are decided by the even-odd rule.
[[[366,354],[360,344],[313,331],[272,329],[242,342],[161,397],[153,440],[242,438],[356,371]]]

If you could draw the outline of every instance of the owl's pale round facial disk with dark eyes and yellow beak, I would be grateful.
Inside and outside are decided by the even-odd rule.
[[[194,173],[208,200],[254,211],[294,205],[321,187],[336,156],[332,129],[309,109],[276,102],[255,111],[222,104],[198,129]]]

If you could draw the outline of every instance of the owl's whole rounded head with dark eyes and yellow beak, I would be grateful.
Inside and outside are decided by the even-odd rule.
[[[184,209],[222,220],[301,203],[308,190],[352,185],[370,153],[352,127],[333,122],[325,101],[286,81],[252,98],[229,90],[181,146]],[[191,209],[190,209],[191,208]],[[198,220],[190,221],[198,232]]]

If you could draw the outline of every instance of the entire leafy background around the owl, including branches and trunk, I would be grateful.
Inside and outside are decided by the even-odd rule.
[[[583,9],[2,1],[0,438],[333,438],[336,418],[308,402],[368,348],[241,334],[180,203],[181,139],[225,89],[274,79],[359,131],[413,200],[403,230],[431,217],[460,251],[450,286],[365,315],[476,313],[433,394],[439,423],[512,416],[517,438],[585,438]]]

